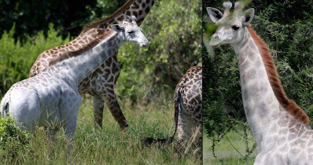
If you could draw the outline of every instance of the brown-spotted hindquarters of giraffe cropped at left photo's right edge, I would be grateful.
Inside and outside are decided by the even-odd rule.
[[[190,140],[195,129],[202,126],[202,67],[191,67],[179,81],[174,96],[178,113],[178,141]],[[177,120],[177,119],[175,119]],[[198,144],[202,144],[199,142]]]

